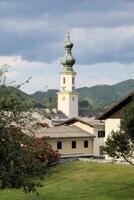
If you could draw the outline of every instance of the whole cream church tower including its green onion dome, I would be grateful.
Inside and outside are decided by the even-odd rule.
[[[68,33],[65,41],[65,55],[61,59],[63,70],[60,73],[60,91],[58,92],[58,111],[63,112],[68,118],[78,117],[78,93],[75,91],[75,76],[73,70],[75,59],[71,50],[73,43]]]

